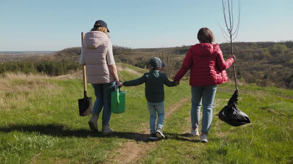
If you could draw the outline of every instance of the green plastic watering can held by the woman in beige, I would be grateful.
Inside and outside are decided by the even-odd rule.
[[[111,93],[111,111],[117,114],[125,111],[125,92],[120,91],[119,87]]]

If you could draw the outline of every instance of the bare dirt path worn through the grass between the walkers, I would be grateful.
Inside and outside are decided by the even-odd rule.
[[[165,110],[165,122],[166,120],[180,107],[182,107],[185,103],[190,101],[191,97],[187,97],[179,101],[174,106],[170,106],[168,110]],[[146,127],[148,127],[147,123]],[[128,164],[128,163],[136,163],[136,160],[138,160],[140,157],[144,155],[145,152],[151,150],[155,146],[155,142],[146,142],[148,140],[147,135],[149,133],[149,128],[144,129],[144,134],[137,134],[136,137],[144,137],[141,138],[140,141],[129,141],[125,142],[122,146],[122,148],[118,149],[116,151],[116,154],[118,154],[114,159],[110,160],[110,163],[119,163],[119,164]],[[135,138],[136,138],[135,137]],[[144,142],[145,141],[145,142]]]

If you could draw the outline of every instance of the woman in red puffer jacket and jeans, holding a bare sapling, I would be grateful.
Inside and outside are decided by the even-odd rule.
[[[208,28],[201,28],[197,34],[197,39],[200,43],[189,48],[180,70],[174,77],[174,82],[179,82],[185,73],[190,70],[191,134],[199,135],[198,127],[202,103],[201,142],[208,142],[217,84],[228,81],[225,70],[235,61],[235,56],[230,56],[226,61],[224,60],[219,44],[212,44],[215,39],[212,31]]]

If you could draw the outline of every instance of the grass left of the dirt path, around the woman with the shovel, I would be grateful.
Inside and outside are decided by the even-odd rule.
[[[119,72],[123,81],[147,71],[124,64],[122,67],[134,69]],[[0,163],[23,163],[39,153],[36,163],[105,162],[108,152],[128,140],[128,133],[146,128],[142,124],[148,121],[144,85],[123,88],[127,89],[126,112],[112,115],[111,127],[116,133],[105,137],[88,129],[89,117],[78,116],[77,99],[83,97],[81,80],[40,78],[1,79],[6,89],[0,94]],[[8,88],[10,85],[15,87]],[[94,101],[89,84],[88,88]],[[188,85],[176,90],[165,87],[166,108],[189,96],[180,92],[186,89]]]

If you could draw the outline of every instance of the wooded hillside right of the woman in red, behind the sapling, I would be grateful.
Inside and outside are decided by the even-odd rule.
[[[293,88],[293,41],[236,42],[233,45],[237,79],[259,86]],[[224,43],[220,47],[228,58],[230,45]],[[228,69],[228,75],[233,75],[232,71]]]

